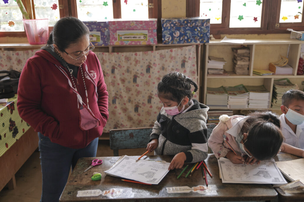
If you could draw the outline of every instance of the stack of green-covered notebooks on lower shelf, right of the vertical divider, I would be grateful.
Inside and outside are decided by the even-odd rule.
[[[290,89],[299,89],[297,84],[293,84],[289,81],[288,78],[282,78],[275,80],[273,82],[273,91],[272,91],[272,107],[281,107],[282,105],[282,95]]]

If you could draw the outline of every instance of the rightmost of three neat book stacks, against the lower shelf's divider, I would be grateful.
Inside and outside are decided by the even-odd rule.
[[[269,108],[270,92],[261,86],[245,86],[249,92],[248,108],[267,109]]]

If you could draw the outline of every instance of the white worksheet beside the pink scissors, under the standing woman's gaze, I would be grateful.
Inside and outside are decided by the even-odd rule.
[[[169,172],[170,163],[144,159],[136,161],[136,159],[125,155],[105,173],[143,183],[158,184]]]

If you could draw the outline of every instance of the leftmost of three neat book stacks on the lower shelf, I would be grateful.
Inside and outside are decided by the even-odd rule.
[[[223,86],[219,88],[207,87],[206,104],[209,108],[227,109],[228,94]]]

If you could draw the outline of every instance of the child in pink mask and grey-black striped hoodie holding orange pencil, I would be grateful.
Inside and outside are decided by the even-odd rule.
[[[175,155],[169,170],[181,168],[184,162],[196,163],[207,157],[209,108],[192,99],[197,90],[198,86],[191,78],[178,72],[164,75],[157,85],[163,108],[157,115],[147,150],[149,153],[154,151],[155,155]]]

